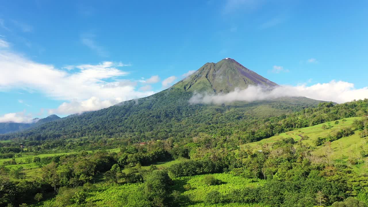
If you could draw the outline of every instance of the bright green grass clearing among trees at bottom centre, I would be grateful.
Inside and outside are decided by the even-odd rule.
[[[208,186],[205,185],[203,179],[206,175],[184,176],[174,178],[175,190],[183,192],[184,195],[190,197],[194,203],[203,203],[206,194],[212,190],[218,190],[222,194],[229,193],[232,189],[239,189],[241,187],[257,187],[258,185],[264,185],[265,180],[261,179],[248,179],[240,176],[235,176],[226,173],[212,174],[216,179],[221,180],[222,184]],[[190,184],[192,189],[184,191],[183,186]]]

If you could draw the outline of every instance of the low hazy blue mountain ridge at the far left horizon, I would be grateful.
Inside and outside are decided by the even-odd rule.
[[[60,117],[53,114],[43,119],[35,118],[33,119],[34,121],[33,123],[15,123],[15,122],[0,123],[0,134],[29,129],[57,119],[60,119]]]

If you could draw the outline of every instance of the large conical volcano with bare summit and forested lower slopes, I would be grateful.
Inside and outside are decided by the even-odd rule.
[[[256,74],[233,59],[206,63],[173,87],[149,97],[121,102],[94,112],[70,116],[42,126],[4,134],[0,139],[60,137],[127,137],[138,140],[195,136],[199,132],[257,127],[256,122],[316,106],[321,101],[287,97],[222,105],[190,104],[194,91],[227,93],[249,85],[265,87],[276,83]]]

